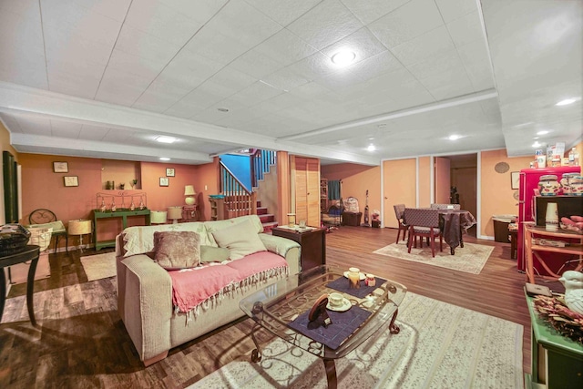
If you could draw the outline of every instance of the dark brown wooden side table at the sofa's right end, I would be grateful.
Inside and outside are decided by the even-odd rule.
[[[275,227],[271,230],[274,236],[297,241],[302,246],[302,271],[326,264],[326,233],[325,229],[313,229],[299,232],[292,229]]]

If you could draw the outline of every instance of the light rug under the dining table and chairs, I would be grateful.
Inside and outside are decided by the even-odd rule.
[[[493,250],[492,246],[464,242],[464,247],[455,248],[455,255],[451,255],[449,246],[444,244],[444,251],[439,251],[439,246],[437,246],[434,258],[431,256],[431,247],[424,244],[423,248],[420,249],[411,248],[411,253],[409,253],[407,252],[407,244],[403,241],[389,244],[373,252],[405,261],[421,262],[455,271],[479,274]]]

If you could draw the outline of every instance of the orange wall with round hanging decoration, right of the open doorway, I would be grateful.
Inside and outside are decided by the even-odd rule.
[[[478,226],[478,237],[494,236],[494,222],[492,215],[518,214],[518,200],[514,198],[517,189],[511,188],[510,173],[527,169],[532,157],[508,158],[506,149],[482,151],[481,153],[481,202],[478,205],[481,210],[482,223]],[[506,162],[510,169],[506,173],[497,173],[496,164]]]

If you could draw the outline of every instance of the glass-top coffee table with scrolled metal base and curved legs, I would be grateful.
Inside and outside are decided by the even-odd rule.
[[[255,321],[251,330],[251,338],[256,349],[251,354],[252,362],[261,361],[261,348],[255,337],[256,331],[263,328],[270,333],[280,337],[288,343],[312,353],[320,358],[324,363],[328,379],[328,387],[335,388],[337,384],[335,359],[342,358],[347,353],[352,352],[364,341],[389,329],[391,333],[399,333],[399,327],[394,323],[399,304],[403,301],[407,288],[390,280],[376,279],[373,287],[365,286],[361,281],[362,291],[359,289],[340,292],[332,289],[333,286],[340,285],[348,287],[348,279],[344,276],[344,270],[331,266],[320,266],[310,271],[289,276],[285,280],[271,284],[264,289],[251,294],[242,299],[240,308],[251,319]],[[344,283],[345,282],[345,283]],[[367,289],[364,289],[367,288]],[[342,288],[341,288],[342,289]],[[332,348],[300,331],[292,328],[292,324],[298,327],[298,322],[310,312],[312,305],[322,294],[340,292],[343,297],[351,303],[351,307],[346,311],[362,312],[365,316],[362,322],[358,322],[353,331],[346,334],[346,338],[339,346]],[[366,292],[363,297],[356,297],[352,292]],[[357,307],[354,308],[353,307]],[[336,312],[338,313],[338,312]],[[343,314],[343,313],[341,313]],[[334,316],[339,318],[341,316]],[[346,316],[348,317],[348,316]],[[307,319],[306,319],[307,320]],[[332,318],[332,324],[326,328],[336,325],[342,326],[342,321]],[[307,332],[310,334],[310,332]]]

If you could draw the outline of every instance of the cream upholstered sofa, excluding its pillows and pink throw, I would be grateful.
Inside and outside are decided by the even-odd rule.
[[[277,282],[282,277],[271,276],[260,282],[248,282],[244,288],[233,288],[232,291],[221,294],[221,298],[206,304],[205,308],[198,309],[194,317],[189,317],[189,313],[176,312],[172,305],[172,280],[169,271],[161,268],[152,259],[154,231],[196,231],[199,233],[201,245],[217,247],[212,231],[226,229],[245,220],[251,221],[253,229],[257,230],[268,251],[287,261],[288,275],[301,271],[300,245],[262,233],[261,220],[256,215],[230,220],[129,227],[118,235],[118,312],[140,360],[146,366],[164,359],[169,349],[240,318],[244,314],[239,307],[241,298]]]

